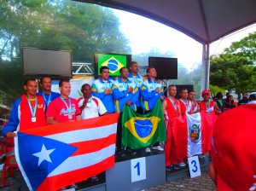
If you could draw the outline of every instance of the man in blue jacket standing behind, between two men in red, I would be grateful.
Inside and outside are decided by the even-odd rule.
[[[51,91],[51,78],[47,76],[40,78],[40,86],[43,91],[38,92],[38,95],[44,97],[44,105],[45,105],[45,113],[46,113],[46,109],[49,106],[49,103],[61,95],[59,93]]]

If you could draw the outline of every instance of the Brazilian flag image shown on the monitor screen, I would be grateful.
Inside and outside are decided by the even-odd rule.
[[[126,67],[126,56],[124,55],[99,55],[99,68],[108,67],[112,75],[119,75],[119,69]]]

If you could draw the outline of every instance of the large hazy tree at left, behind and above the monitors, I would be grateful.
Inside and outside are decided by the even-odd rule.
[[[22,92],[21,47],[66,49],[73,61],[93,62],[94,52],[129,53],[111,9],[66,0],[0,1],[0,90]]]

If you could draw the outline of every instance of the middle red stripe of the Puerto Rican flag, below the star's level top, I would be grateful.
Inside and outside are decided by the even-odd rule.
[[[84,154],[92,153],[101,150],[102,148],[107,148],[109,145],[115,144],[116,134],[110,135],[105,138],[91,140],[88,142],[75,142],[70,145],[79,148],[71,157]]]

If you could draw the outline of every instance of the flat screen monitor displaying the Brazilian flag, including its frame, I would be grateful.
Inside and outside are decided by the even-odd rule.
[[[131,55],[95,53],[95,75],[101,75],[100,68],[105,66],[109,68],[109,76],[119,76],[119,69],[121,67],[128,67],[131,62]]]

